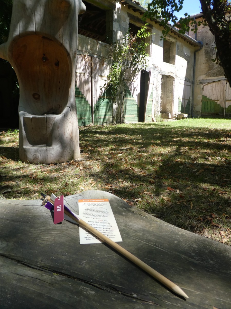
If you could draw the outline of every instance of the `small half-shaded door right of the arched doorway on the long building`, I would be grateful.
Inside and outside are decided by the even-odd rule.
[[[191,83],[186,80],[179,82],[179,104],[178,112],[183,114],[190,114],[190,93]]]

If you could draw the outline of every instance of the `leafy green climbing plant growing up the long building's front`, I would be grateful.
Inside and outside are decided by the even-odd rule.
[[[147,67],[149,45],[145,41],[151,33],[146,32],[147,24],[136,35],[125,34],[122,44],[113,44],[109,50],[110,73],[102,89],[110,91],[117,115],[114,122],[123,123],[125,118],[124,103],[126,93],[138,73]]]

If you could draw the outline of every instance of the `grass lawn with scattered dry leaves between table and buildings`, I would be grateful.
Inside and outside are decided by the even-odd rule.
[[[111,192],[180,228],[231,245],[231,120],[80,127],[82,161],[19,160],[19,133],[0,132],[0,198]]]

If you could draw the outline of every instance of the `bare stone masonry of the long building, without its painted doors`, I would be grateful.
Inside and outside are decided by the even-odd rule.
[[[109,0],[102,0],[94,1],[94,4],[97,5],[98,2],[101,2],[101,5],[103,3],[105,7],[109,7],[112,3]],[[161,112],[170,112],[173,116],[179,112],[179,102],[184,98],[184,83],[187,82],[189,87],[192,84],[195,43],[191,44],[190,40],[184,39],[174,31],[170,32],[166,41],[163,41],[161,40],[163,28],[150,20],[147,23],[148,31],[152,33],[152,36],[146,39],[150,43],[147,49],[149,64],[146,70],[152,70],[151,91],[149,90],[152,94],[152,113],[161,109]],[[123,5],[120,1],[113,2],[111,9],[106,11],[106,30],[112,36],[112,41],[121,43],[130,24],[140,28],[145,24],[140,12]],[[106,59],[108,48],[109,45],[106,43],[79,35],[79,54]],[[190,101],[192,87],[188,89],[191,89],[188,95]],[[140,76],[130,90],[139,107]],[[191,106],[191,101],[189,104]]]

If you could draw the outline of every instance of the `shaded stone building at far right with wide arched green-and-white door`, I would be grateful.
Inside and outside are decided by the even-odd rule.
[[[196,22],[203,14],[192,16]],[[194,117],[231,117],[231,88],[224,71],[211,59],[216,58],[216,45],[208,26],[200,25],[189,36],[203,43],[203,48],[196,52],[195,87],[193,93],[192,115]]]

